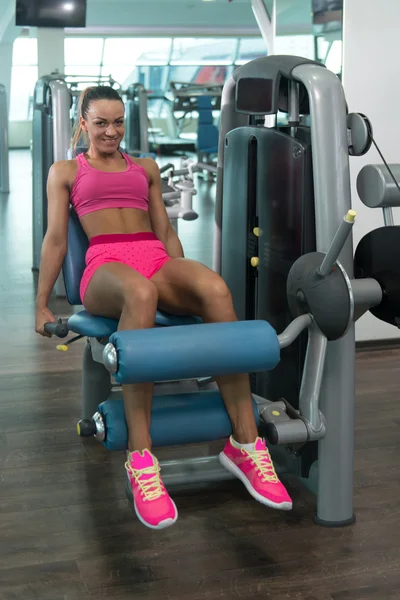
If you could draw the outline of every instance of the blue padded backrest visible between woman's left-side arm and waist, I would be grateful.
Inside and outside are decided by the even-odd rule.
[[[67,300],[70,304],[82,304],[79,286],[85,270],[85,256],[89,247],[86,233],[73,208],[68,220],[68,250],[63,262],[63,275]]]

